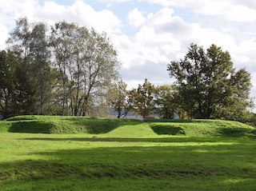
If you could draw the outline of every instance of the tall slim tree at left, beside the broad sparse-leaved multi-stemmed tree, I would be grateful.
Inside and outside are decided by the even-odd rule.
[[[29,23],[26,18],[20,18],[7,40],[8,49],[19,58],[19,81],[26,82],[26,86],[20,86],[23,93],[26,91],[26,96],[18,96],[20,102],[22,97],[30,97],[30,109],[40,114],[44,113],[44,107],[50,101],[51,91],[50,50],[46,34],[46,24]]]

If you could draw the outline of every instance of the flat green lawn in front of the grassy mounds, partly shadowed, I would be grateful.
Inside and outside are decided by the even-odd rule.
[[[0,190],[256,189],[256,143],[250,138],[0,137]]]

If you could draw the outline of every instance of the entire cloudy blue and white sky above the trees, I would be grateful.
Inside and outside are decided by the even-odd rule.
[[[170,85],[166,70],[184,58],[195,43],[227,50],[239,70],[251,74],[251,97],[256,97],[255,0],[0,0],[0,50],[15,26],[29,22],[65,20],[108,34],[122,62],[120,73],[129,88],[147,78]]]

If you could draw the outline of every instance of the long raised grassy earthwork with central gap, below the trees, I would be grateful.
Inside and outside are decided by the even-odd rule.
[[[255,128],[237,121],[222,120],[161,120],[18,116],[0,121],[0,132],[11,133],[86,133],[108,137],[151,137],[177,135],[189,137],[242,137],[253,135]]]

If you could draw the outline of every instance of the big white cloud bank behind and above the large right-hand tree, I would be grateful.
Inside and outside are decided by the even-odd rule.
[[[134,36],[114,36],[114,44],[124,66],[123,78],[128,83],[132,81],[131,84],[134,84],[134,79],[142,83],[144,78],[149,78],[154,84],[170,83],[166,65],[172,60],[183,58],[191,42],[204,48],[211,44],[222,46],[222,50],[230,52],[235,67],[255,67],[252,64],[252,60],[256,60],[255,38],[239,39],[238,42],[230,30],[186,22],[174,16],[174,10],[170,8],[150,13],[145,18]],[[147,66],[153,70],[146,70]]]

